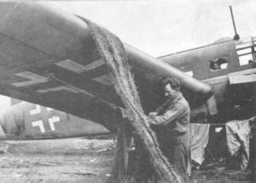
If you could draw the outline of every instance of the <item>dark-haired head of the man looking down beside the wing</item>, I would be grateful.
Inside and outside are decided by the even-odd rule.
[[[176,78],[165,78],[162,81],[165,95],[170,100],[174,100],[180,93],[180,82]]]

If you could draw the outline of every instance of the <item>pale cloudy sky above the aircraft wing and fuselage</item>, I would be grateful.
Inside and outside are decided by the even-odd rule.
[[[151,0],[151,1],[47,1],[70,14],[104,26],[123,42],[160,57],[233,38],[231,5],[238,34],[256,37],[256,1]],[[10,98],[0,97],[0,108]]]

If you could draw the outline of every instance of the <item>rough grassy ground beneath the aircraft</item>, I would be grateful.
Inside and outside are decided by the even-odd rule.
[[[104,182],[110,177],[113,140],[72,138],[6,141],[0,182]],[[194,171],[191,182],[254,182],[250,171]]]

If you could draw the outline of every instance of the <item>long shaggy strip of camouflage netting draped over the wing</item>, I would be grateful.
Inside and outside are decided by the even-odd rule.
[[[114,78],[115,90],[122,98],[128,113],[134,119],[130,121],[135,129],[134,136],[140,141],[141,148],[145,152],[144,155],[149,160],[150,166],[154,169],[156,177],[162,177],[162,180],[166,181],[180,182],[178,174],[174,171],[166,157],[162,155],[154,132],[150,129],[149,123],[146,120],[146,115],[143,112],[138,97],[138,91],[128,67],[126,51],[122,42],[108,30],[88,20],[86,22],[97,46],[98,53],[105,60],[112,78]]]

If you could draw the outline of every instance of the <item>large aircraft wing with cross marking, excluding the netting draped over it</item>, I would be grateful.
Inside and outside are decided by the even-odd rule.
[[[94,96],[124,105],[86,22],[43,2],[1,2],[0,19],[1,94],[91,121],[114,120],[114,111],[98,105]],[[196,95],[209,96],[210,86],[124,46],[146,112],[158,105],[160,77],[178,78],[189,100]]]

